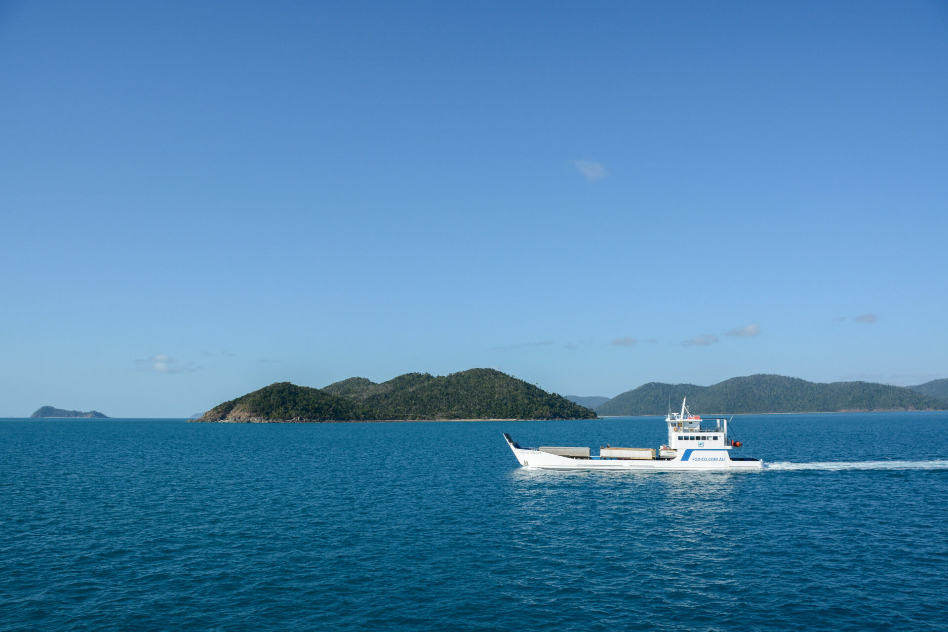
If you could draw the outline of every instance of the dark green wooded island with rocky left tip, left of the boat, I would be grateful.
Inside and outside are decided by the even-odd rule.
[[[279,382],[214,406],[197,422],[594,419],[578,406],[493,369],[406,373],[376,384],[351,377],[325,388]]]

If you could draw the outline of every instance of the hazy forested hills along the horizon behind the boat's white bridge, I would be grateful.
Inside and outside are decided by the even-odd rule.
[[[915,387],[913,387],[915,388]],[[944,410],[948,402],[912,388],[872,382],[820,384],[783,375],[750,375],[710,387],[649,382],[616,395],[595,410],[600,415],[665,415],[668,406],[694,414]]]

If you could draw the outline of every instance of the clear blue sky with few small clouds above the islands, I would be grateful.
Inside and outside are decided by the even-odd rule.
[[[0,415],[948,376],[944,2],[8,2],[0,96]]]

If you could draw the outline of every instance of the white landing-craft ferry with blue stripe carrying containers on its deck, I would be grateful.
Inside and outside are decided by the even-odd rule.
[[[668,443],[654,448],[611,447],[599,448],[593,457],[588,447],[541,445],[538,448],[521,447],[506,432],[514,456],[523,467],[543,470],[720,470],[730,468],[761,468],[759,459],[731,456],[731,450],[740,442],[727,436],[726,419],[703,419],[692,415],[682,401],[682,412],[668,413]],[[702,424],[704,422],[704,424]]]

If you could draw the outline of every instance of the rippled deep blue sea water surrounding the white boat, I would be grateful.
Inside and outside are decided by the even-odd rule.
[[[2,630],[946,630],[948,413],[735,418],[760,472],[544,472],[656,418],[0,420]]]

